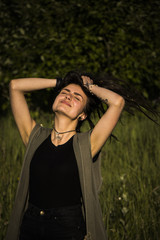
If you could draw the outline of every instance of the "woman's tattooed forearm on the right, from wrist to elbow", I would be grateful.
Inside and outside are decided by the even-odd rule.
[[[119,94],[106,89],[99,87],[97,85],[89,85],[89,91],[96,95],[100,100],[105,102],[109,107],[110,106],[118,106],[118,107],[123,107],[125,104],[125,101],[122,96]]]

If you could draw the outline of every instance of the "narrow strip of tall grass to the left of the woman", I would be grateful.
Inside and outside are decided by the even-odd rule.
[[[3,239],[25,148],[13,118],[1,119],[0,126],[0,239]]]

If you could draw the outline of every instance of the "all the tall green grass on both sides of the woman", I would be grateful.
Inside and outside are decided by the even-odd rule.
[[[42,122],[50,122],[48,116]],[[160,128],[125,116],[102,151],[100,202],[109,240],[160,239]],[[0,239],[4,239],[25,148],[12,117],[0,120]],[[85,127],[86,128],[86,127]],[[99,239],[100,240],[100,239]]]

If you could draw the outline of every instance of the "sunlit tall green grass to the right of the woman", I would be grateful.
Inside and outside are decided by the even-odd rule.
[[[101,204],[109,239],[160,239],[160,127],[125,118],[103,150]]]

